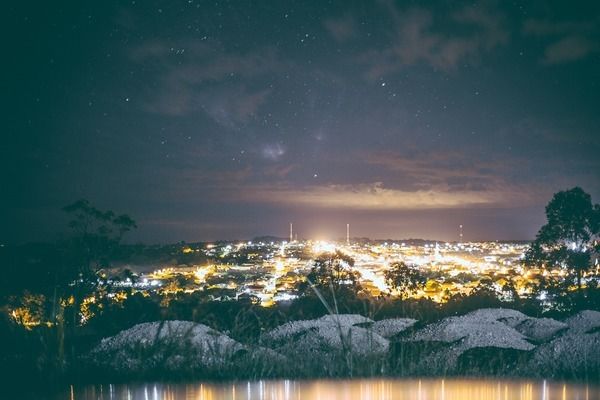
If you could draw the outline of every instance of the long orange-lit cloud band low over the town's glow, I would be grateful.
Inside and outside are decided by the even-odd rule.
[[[277,146],[264,149],[264,157],[278,159],[281,154]],[[362,182],[315,185],[290,181],[290,165],[276,174],[276,182],[265,183],[258,176],[245,178],[230,188],[221,187],[218,196],[243,204],[365,211],[514,208],[545,199],[539,184],[513,179],[515,169],[505,162],[475,160],[451,151],[415,152],[411,156],[376,152],[353,158],[362,159],[363,168],[379,166],[383,170],[371,170]]]

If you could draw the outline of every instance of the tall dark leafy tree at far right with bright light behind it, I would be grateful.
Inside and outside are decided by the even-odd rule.
[[[600,251],[600,205],[592,204],[591,196],[575,187],[554,195],[546,206],[546,218],[525,263],[561,268],[581,289],[583,274]]]

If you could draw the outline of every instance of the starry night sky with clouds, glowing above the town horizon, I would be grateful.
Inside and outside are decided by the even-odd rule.
[[[600,201],[600,2],[13,3],[4,243],[79,198],[149,243],[531,239]]]

